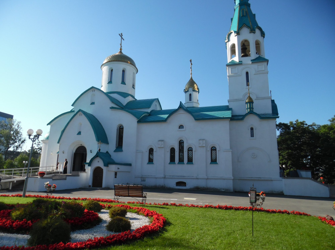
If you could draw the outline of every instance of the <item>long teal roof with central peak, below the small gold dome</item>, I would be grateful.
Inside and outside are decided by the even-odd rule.
[[[228,105],[186,108],[185,105],[180,102],[177,109],[152,110],[149,115],[142,116],[138,122],[165,122],[179,109],[183,109],[188,112],[194,120],[226,119],[231,117],[231,108],[229,108]]]

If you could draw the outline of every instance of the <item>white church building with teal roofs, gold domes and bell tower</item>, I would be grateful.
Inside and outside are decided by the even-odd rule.
[[[121,45],[102,63],[101,87],[78,93],[73,108],[48,123],[40,168],[61,167],[67,158],[67,174],[30,178],[28,190],[43,191],[45,181],[57,189],[136,183],[229,192],[254,184],[270,193],[328,197],[328,187],[309,178],[280,177],[265,33],[249,0],[235,4],[225,40],[228,105],[199,105],[192,63],[190,80],[180,86],[185,100],[175,109],[163,109],[158,98],[136,99],[138,69]]]

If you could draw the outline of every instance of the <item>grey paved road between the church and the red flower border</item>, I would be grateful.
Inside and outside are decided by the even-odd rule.
[[[149,189],[143,190],[147,193],[147,203],[182,203],[194,205],[231,205],[249,207],[249,197],[247,193],[228,193],[216,191],[194,191],[181,189]],[[22,194],[21,190],[1,191],[0,194]],[[45,195],[45,192],[27,192],[31,195]],[[114,190],[81,188],[71,190],[57,190],[55,196],[64,197],[88,197],[114,199]],[[122,198],[120,201],[136,201],[132,198]],[[284,196],[268,194],[263,204],[264,209],[280,209],[288,211],[305,212],[315,216],[330,215],[335,218],[333,209],[334,198],[316,198],[302,196]]]

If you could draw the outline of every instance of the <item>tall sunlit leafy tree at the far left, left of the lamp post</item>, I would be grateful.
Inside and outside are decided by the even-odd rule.
[[[20,124],[21,122],[15,119],[0,122],[0,153],[3,154],[5,160],[9,157],[9,149],[19,151],[25,142]]]

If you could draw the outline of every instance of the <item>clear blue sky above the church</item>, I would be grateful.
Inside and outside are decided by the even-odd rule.
[[[335,1],[250,4],[265,31],[277,122],[327,124],[335,115]],[[83,91],[100,88],[100,66],[119,51],[121,32],[138,68],[137,99],[159,98],[163,109],[184,103],[192,58],[200,106],[228,105],[224,40],[233,13],[233,0],[1,0],[0,111],[24,135],[45,135]]]

